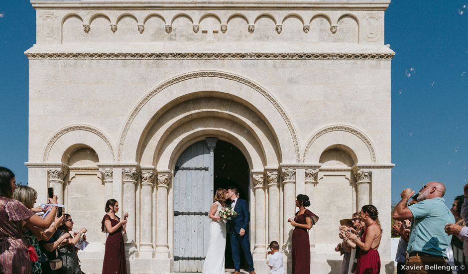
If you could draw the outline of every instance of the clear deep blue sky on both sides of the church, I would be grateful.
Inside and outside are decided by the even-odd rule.
[[[430,180],[451,205],[468,182],[468,0],[394,0],[385,13],[392,61],[392,200]],[[463,14],[461,14],[463,13]],[[35,12],[0,2],[0,165],[27,182],[28,61]],[[413,68],[413,70],[411,70]],[[411,73],[411,75],[409,75]]]

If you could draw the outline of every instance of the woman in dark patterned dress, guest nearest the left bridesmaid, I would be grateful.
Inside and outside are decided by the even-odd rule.
[[[63,214],[65,216],[65,224],[60,226],[54,234],[54,238],[59,239],[62,235],[69,236],[69,239],[65,242],[64,245],[61,245],[57,248],[58,250],[58,259],[62,260],[62,271],[66,271],[67,274],[82,274],[81,267],[78,259],[78,249],[75,247],[76,244],[80,241],[80,238],[83,237],[83,240],[86,240],[86,228],[82,228],[78,233],[74,234],[72,237],[70,231],[73,229],[73,219],[70,214]]]

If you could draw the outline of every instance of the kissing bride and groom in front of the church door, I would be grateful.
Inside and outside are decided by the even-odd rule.
[[[226,237],[229,237],[231,241],[234,274],[240,274],[240,249],[245,255],[249,273],[255,274],[248,241],[248,203],[239,199],[238,193],[239,190],[235,187],[228,190],[224,188],[216,190],[214,203],[208,214],[208,218],[211,219],[210,239],[208,253],[203,264],[204,274],[225,274]],[[232,201],[231,205],[228,205],[227,201]],[[234,210],[234,217],[222,218],[220,211],[224,212],[228,207]],[[228,226],[228,230],[226,226]]]

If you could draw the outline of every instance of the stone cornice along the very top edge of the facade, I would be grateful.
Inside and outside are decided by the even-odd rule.
[[[335,0],[335,1],[259,1],[259,0],[32,0],[34,8],[39,9],[332,9],[332,10],[385,10],[390,0]]]

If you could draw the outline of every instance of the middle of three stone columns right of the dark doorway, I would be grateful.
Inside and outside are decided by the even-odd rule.
[[[278,171],[267,171],[266,183],[268,184],[268,243],[271,241],[280,243]]]

